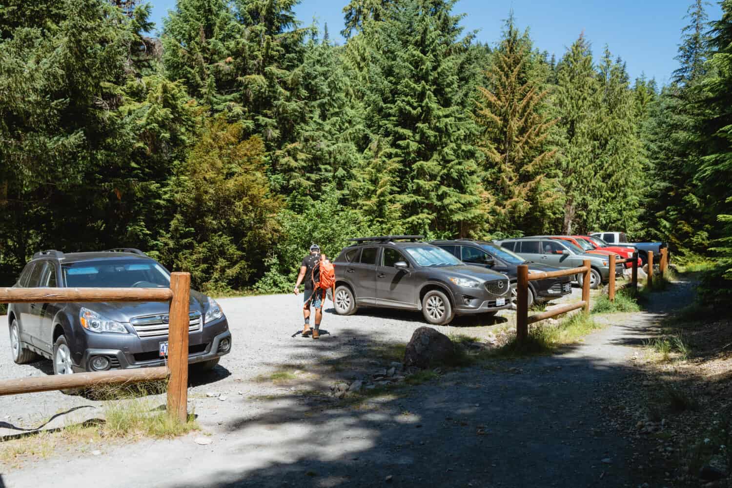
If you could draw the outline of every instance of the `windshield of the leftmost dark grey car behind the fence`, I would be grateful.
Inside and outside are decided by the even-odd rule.
[[[160,288],[171,285],[168,271],[148,260],[80,261],[61,266],[69,288]]]

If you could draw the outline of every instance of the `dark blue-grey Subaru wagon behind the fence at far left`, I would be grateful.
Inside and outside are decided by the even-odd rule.
[[[15,283],[21,288],[157,288],[170,273],[138,249],[102,252],[37,252]],[[53,361],[53,373],[105,371],[165,364],[167,303],[88,302],[10,304],[12,359],[36,355]],[[214,299],[190,292],[188,362],[214,367],[231,350],[231,332]]]

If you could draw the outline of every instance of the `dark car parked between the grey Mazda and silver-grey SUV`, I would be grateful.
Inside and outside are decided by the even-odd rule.
[[[529,264],[515,252],[509,251],[492,242],[474,241],[472,239],[457,239],[455,241],[432,241],[434,244],[451,253],[463,261],[463,263],[474,266],[482,266],[493,271],[506,274],[511,280],[512,301],[515,304],[516,282],[518,280],[518,266]],[[531,263],[529,273],[559,271],[559,268],[546,266],[544,264]],[[551,299],[558,299],[560,296],[572,293],[572,279],[570,277],[558,277],[537,279],[529,282],[528,303],[531,307],[534,302],[541,303]]]

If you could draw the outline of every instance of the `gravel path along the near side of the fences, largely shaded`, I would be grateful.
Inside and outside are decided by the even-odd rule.
[[[450,372],[359,408],[239,396],[202,420],[209,446],[191,435],[50,459],[2,475],[0,487],[635,486],[632,448],[605,427],[602,398],[632,373],[662,314],[692,295],[679,282],[556,355]]]

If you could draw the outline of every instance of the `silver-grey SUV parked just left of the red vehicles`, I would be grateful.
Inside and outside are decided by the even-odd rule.
[[[599,288],[602,283],[610,279],[610,266],[608,258],[596,254],[588,254],[569,241],[561,241],[550,238],[520,238],[505,239],[497,241],[501,247],[509,249],[531,263],[548,264],[558,268],[578,268],[582,266],[583,260],[589,259],[590,288]],[[616,274],[623,273],[623,265],[616,265]],[[576,280],[582,285],[583,276],[579,275]]]

